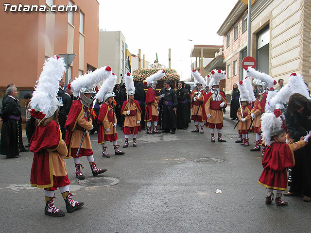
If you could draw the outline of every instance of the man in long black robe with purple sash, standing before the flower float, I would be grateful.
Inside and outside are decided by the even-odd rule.
[[[164,81],[164,88],[160,91],[160,102],[161,108],[161,125],[162,133],[175,133],[177,128],[176,123],[176,110],[178,107],[177,96],[175,90],[171,87],[170,81]]]

